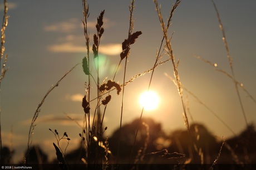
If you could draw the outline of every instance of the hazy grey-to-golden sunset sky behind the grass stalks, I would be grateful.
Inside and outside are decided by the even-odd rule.
[[[127,38],[129,29],[130,1],[87,1],[90,16],[88,28],[90,37],[96,33],[96,18],[105,9],[105,32],[100,44],[100,81],[112,79],[120,60],[121,43]],[[159,1],[166,20],[174,1]],[[256,22],[255,1],[215,1],[227,37],[230,55],[233,58],[235,78],[243,83],[250,95],[256,97]],[[80,63],[86,54],[82,27],[81,1],[17,1],[8,2],[9,23],[6,29],[5,54],[8,54],[6,76],[1,84],[1,126],[4,146],[15,150],[15,161],[21,160],[26,151],[29,126],[36,107],[48,89],[72,66]],[[3,16],[3,4],[0,8]],[[131,45],[127,63],[126,80],[152,68],[155,54],[160,47],[163,33],[152,1],[135,1],[134,32],[142,34]],[[211,1],[181,1],[176,9],[169,29],[173,34],[171,44],[176,61],[179,59],[181,83],[213,110],[220,119],[239,134],[246,124],[239,105],[234,83],[226,75],[194,56],[200,56],[218,68],[231,74],[227,52],[222,41],[218,18]],[[92,44],[91,44],[92,45]],[[90,54],[92,57],[92,54]],[[164,55],[162,61],[168,59]],[[93,64],[93,63],[92,63]],[[152,117],[161,123],[169,134],[185,128],[183,109],[176,86],[166,76],[173,76],[171,63],[156,68],[151,90],[159,95],[160,104],[156,110],[144,111],[143,117]],[[116,81],[121,84],[124,75],[124,61],[117,72]],[[122,123],[129,123],[141,113],[140,94],[147,90],[150,74],[134,80],[125,87],[124,115]],[[85,95],[87,76],[78,65],[48,95],[36,120],[33,144],[42,146],[54,156],[52,142],[55,136],[48,128],[67,132],[71,138],[70,147],[77,146],[81,128],[67,116],[82,121],[82,96]],[[92,89],[96,85],[92,85]],[[241,88],[239,92],[244,104],[248,123],[256,122],[255,102]],[[203,123],[217,138],[228,138],[233,133],[219,121],[205,106],[184,90],[184,99],[189,104],[194,122]],[[93,106],[92,106],[93,107]],[[121,95],[112,94],[107,108],[106,136],[120,125]],[[191,116],[189,121],[192,122]]]

